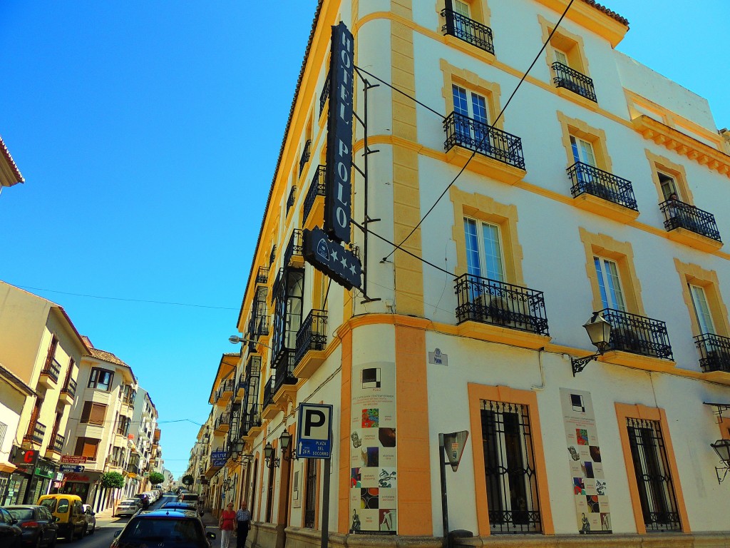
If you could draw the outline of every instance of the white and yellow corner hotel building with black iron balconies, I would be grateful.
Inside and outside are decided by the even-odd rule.
[[[438,439],[459,430],[448,523],[474,537],[456,545],[730,542],[710,446],[730,438],[730,141],[704,99],[614,49],[621,15],[576,0],[553,33],[567,4],[319,2],[238,324],[225,443],[253,546],[320,542],[323,462],[281,449],[301,403],[334,406],[333,546],[440,546]],[[340,21],[367,126],[353,220],[405,240],[353,225],[366,295],[302,257]],[[610,343],[576,364],[595,313]]]

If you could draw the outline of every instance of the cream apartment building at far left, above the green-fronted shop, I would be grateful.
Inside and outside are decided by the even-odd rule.
[[[9,477],[0,492],[4,503],[35,502],[58,482],[78,364],[88,354],[64,308],[0,282],[0,400],[4,416],[11,417],[4,437],[12,443],[4,465]]]

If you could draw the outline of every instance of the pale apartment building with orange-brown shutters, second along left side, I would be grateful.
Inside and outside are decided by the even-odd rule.
[[[97,349],[88,338],[85,342],[90,355],[80,363],[79,388],[64,445],[64,454],[82,457],[83,470],[64,473],[60,491],[79,495],[101,511],[120,498],[117,490],[100,486],[101,475],[110,471],[131,479],[137,475],[128,470],[128,464],[137,450],[131,422],[139,386],[129,365]]]

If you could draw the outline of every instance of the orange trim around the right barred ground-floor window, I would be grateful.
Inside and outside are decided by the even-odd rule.
[[[642,406],[640,404],[631,405],[628,403],[615,403],[614,405],[616,409],[616,418],[618,419],[618,435],[621,439],[623,461],[626,465],[626,476],[628,476],[629,479],[629,495],[631,496],[631,508],[634,510],[634,520],[636,521],[637,533],[639,533],[639,535],[645,535],[646,526],[644,525],[644,514],[641,509],[641,500],[639,498],[639,487],[637,485],[636,471],[634,469],[634,460],[631,458],[629,429],[626,425],[626,419],[629,418],[645,419],[659,423],[661,435],[664,438],[666,460],[669,461],[669,473],[672,475],[672,484],[674,485],[675,495],[677,496],[677,512],[680,514],[682,532],[691,533],[687,509],[685,508],[684,496],[682,493],[682,485],[680,484],[680,473],[677,470],[675,451],[672,446],[672,436],[669,434],[669,423],[666,422],[666,413],[664,412],[664,409]]]

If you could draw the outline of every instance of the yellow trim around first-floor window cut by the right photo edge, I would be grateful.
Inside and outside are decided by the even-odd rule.
[[[702,335],[697,323],[697,315],[694,311],[694,302],[689,292],[688,283],[694,286],[701,286],[704,289],[704,296],[707,298],[707,306],[710,308],[712,323],[715,324],[715,332],[718,335],[727,337],[730,335],[730,325],[728,323],[728,309],[723,302],[720,293],[720,279],[715,270],[705,270],[699,265],[681,262],[675,257],[675,268],[680,275],[680,286],[682,287],[682,296],[684,297],[687,312],[692,324],[692,333],[694,335]]]

